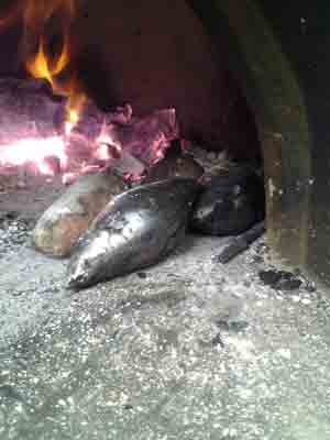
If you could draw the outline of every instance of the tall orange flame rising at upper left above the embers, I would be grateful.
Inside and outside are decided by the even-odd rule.
[[[76,18],[77,0],[19,0],[7,19],[23,22],[23,47],[26,70],[37,79],[47,80],[54,94],[68,97],[66,133],[78,122],[87,97],[74,69],[72,24]],[[50,30],[61,36],[56,54],[50,50]],[[53,35],[54,36],[54,35]],[[36,44],[35,44],[36,43]]]

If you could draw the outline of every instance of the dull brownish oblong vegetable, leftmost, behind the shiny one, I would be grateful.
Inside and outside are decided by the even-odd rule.
[[[125,188],[123,179],[109,170],[81,176],[38,220],[35,248],[53,256],[68,255],[95,217]]]

